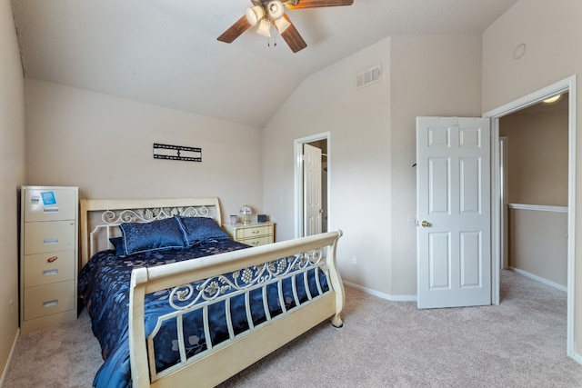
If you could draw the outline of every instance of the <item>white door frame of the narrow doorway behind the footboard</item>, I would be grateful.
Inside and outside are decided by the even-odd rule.
[[[294,158],[295,158],[295,238],[302,237],[303,230],[303,144],[313,143],[318,140],[326,140],[327,142],[327,198],[326,198],[326,214],[327,214],[327,230],[331,223],[331,212],[329,212],[330,204],[330,176],[331,176],[331,133],[324,132],[322,134],[312,134],[310,136],[295,139],[293,141]]]

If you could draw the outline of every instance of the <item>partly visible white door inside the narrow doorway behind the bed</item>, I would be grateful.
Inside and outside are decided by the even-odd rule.
[[[321,149],[303,144],[303,199],[305,235],[321,233]]]

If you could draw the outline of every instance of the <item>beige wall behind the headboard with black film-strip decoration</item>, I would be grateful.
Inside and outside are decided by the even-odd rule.
[[[87,198],[218,196],[261,210],[261,131],[161,106],[27,79],[27,184]],[[153,144],[202,148],[202,163],[158,160]]]

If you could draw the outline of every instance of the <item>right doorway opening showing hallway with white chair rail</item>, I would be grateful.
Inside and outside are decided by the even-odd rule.
[[[567,291],[568,94],[499,119],[503,259]]]

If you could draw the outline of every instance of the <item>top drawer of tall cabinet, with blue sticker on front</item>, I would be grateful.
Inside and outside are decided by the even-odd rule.
[[[25,190],[25,222],[75,219],[76,193],[76,189],[65,188]]]

